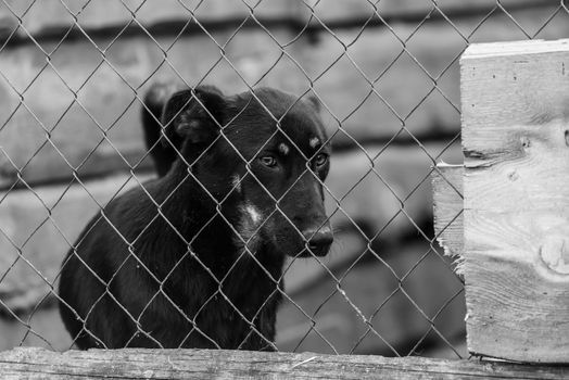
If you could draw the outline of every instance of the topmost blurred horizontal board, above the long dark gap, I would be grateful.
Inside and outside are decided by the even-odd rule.
[[[557,4],[556,0],[502,2],[508,12]],[[139,4],[139,1],[99,0],[85,5],[87,4],[84,2],[62,4],[59,0],[38,1],[33,5],[26,1],[4,1],[0,3],[0,41],[11,47],[59,42],[62,38],[83,39],[84,31],[92,38],[113,38],[117,34],[146,36],[146,30],[154,37],[172,34],[173,30],[184,30],[185,34],[193,35],[201,34],[202,28],[232,30],[237,27],[256,28],[260,24],[268,29],[288,27],[314,33],[327,28],[359,28],[364,23],[367,27],[384,27],[394,23],[416,24],[427,14],[431,20],[455,20],[485,15],[496,7],[494,0],[447,0],[438,4],[440,12],[434,11],[430,2],[414,0],[380,2],[376,7],[366,1],[347,4],[337,0],[328,1],[326,5],[314,1],[299,3],[291,0],[264,0],[253,8],[246,2],[223,0],[207,0],[198,5],[190,2],[181,5],[177,0],[144,4]],[[381,18],[371,17],[376,8]],[[254,18],[251,13],[254,14]],[[317,18],[311,17],[313,13]],[[135,16],[138,22],[132,22]],[[199,25],[188,23],[192,16],[199,20]],[[77,27],[69,30],[75,23],[80,25],[83,30]],[[18,25],[23,27],[18,28]]]

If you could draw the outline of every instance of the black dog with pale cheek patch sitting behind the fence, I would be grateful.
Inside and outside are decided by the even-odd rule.
[[[147,130],[160,132],[150,116]],[[162,124],[172,150],[154,159],[167,173],[81,232],[63,263],[63,321],[79,349],[275,350],[286,255],[325,255],[332,242],[316,105],[269,88],[202,87],[172,96]]]

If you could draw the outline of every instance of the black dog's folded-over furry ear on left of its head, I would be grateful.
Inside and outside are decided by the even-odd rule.
[[[174,93],[162,112],[166,137],[177,135],[197,144],[213,141],[219,132],[226,106],[224,94],[213,86]]]

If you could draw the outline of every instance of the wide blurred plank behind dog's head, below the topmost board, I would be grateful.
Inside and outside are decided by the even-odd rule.
[[[553,12],[554,9],[544,8],[514,12],[513,16],[527,30],[533,31]],[[463,34],[469,34],[479,22],[477,17],[460,18],[456,25]],[[402,24],[396,25],[394,31],[405,38],[413,30],[415,25]],[[568,33],[569,23],[555,17],[540,36],[558,38]],[[408,53],[403,52],[400,58],[403,47],[392,31],[366,28],[361,36],[358,34],[358,29],[338,30],[334,36],[323,31],[316,35],[316,45],[305,36],[286,49],[313,80],[314,90],[325,105],[323,117],[329,131],[336,134],[337,145],[354,147],[354,139],[366,144],[384,143],[397,134],[397,139],[414,143],[407,131],[402,130],[402,119],[405,128],[419,139],[432,141],[439,137],[448,140],[458,132],[456,59],[466,42],[451,25],[441,22],[423,24],[406,43]],[[224,45],[231,30],[214,29],[212,35],[217,43]],[[273,36],[284,45],[294,38],[295,33],[280,28],[274,30]],[[472,40],[507,40],[523,36],[506,15],[495,13],[477,29]],[[351,43],[353,40],[355,42]],[[432,41],[439,42],[433,46]],[[99,49],[106,48],[109,42],[109,39],[97,39]],[[162,36],[157,42],[165,49],[174,42],[174,36]],[[329,67],[344,53],[341,43],[350,45],[347,53],[353,63],[344,55]],[[43,46],[47,51],[55,48],[53,42]],[[0,187],[11,186],[17,178],[17,168],[24,165],[22,176],[31,183],[69,178],[72,167],[78,168],[78,174],[84,176],[128,170],[135,165],[148,167],[148,161],[139,163],[144,155],[139,99],[148,88],[146,80],[156,68],[160,67],[150,81],[177,77],[172,65],[189,84],[218,85],[227,93],[246,90],[241,78],[254,85],[266,73],[260,85],[304,93],[309,89],[311,80],[291,59],[280,55],[278,43],[258,29],[241,30],[227,43],[225,56],[231,64],[222,58],[218,46],[203,34],[177,41],[168,51],[166,63],[163,52],[148,37],[117,39],[105,50],[108,63],[103,62],[98,68],[101,52],[85,39],[60,46],[51,55],[52,66],[45,69],[46,56],[34,46],[4,50],[0,54],[0,71],[10,84],[0,79],[0,103],[4,104],[0,111],[3,149],[0,151]],[[440,76],[437,88],[418,64],[433,78]],[[210,72],[212,67],[215,68]],[[368,80],[387,71],[374,85],[377,93],[369,94],[371,85],[358,68]],[[21,92],[31,81],[22,104],[12,87]],[[83,106],[73,102],[73,92],[65,84],[78,91],[77,99]],[[390,105],[385,105],[378,94]],[[51,142],[47,141],[47,131],[51,131]]]

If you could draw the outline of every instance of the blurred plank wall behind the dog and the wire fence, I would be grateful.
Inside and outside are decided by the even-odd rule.
[[[155,80],[273,86],[323,103],[337,241],[284,274],[282,351],[467,357],[461,279],[432,229],[432,165],[461,163],[470,43],[569,37],[562,0],[3,0],[0,350],[67,350],[63,256],[153,176],[139,114]]]

